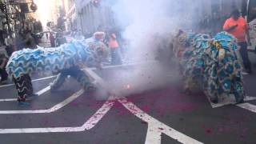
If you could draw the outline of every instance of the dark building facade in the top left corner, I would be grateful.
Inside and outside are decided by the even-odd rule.
[[[33,0],[0,0],[0,46],[12,49],[22,30],[42,30],[35,18],[37,6]],[[6,49],[7,50],[7,49]],[[2,51],[3,50],[2,48]]]

